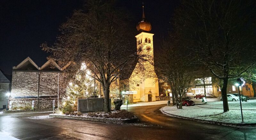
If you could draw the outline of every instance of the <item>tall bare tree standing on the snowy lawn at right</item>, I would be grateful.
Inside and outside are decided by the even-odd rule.
[[[228,79],[255,63],[255,1],[184,0],[173,21],[182,42],[223,80],[223,110],[228,111]]]

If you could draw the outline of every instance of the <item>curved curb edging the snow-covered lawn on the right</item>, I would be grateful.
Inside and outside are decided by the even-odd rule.
[[[224,126],[231,126],[231,127],[256,125],[256,123],[229,123],[229,122],[208,121],[208,120],[203,120],[203,119],[184,117],[184,116],[180,116],[180,115],[174,115],[174,114],[167,113],[167,112],[165,112],[163,110],[163,108],[164,107],[160,108],[160,111],[164,115],[167,115],[167,116],[170,116],[170,117],[174,117],[174,118],[181,118],[181,119],[192,120],[192,121],[196,121],[196,122],[206,122],[206,123],[212,123],[212,124],[218,124],[218,125],[224,125]],[[224,113],[224,112],[222,112],[222,113]],[[219,113],[219,114],[222,114],[222,113]],[[215,115],[219,115],[219,114],[215,114]]]

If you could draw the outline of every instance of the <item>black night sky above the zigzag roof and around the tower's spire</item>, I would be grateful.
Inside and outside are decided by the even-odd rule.
[[[134,18],[134,30],[142,16],[141,0],[119,0]],[[169,21],[178,0],[147,0],[145,15],[152,25],[154,48],[171,28]],[[82,0],[1,0],[0,1],[0,69],[12,74],[28,56],[38,67],[49,55],[39,47],[42,43],[52,44],[60,33],[59,26],[82,7]]]

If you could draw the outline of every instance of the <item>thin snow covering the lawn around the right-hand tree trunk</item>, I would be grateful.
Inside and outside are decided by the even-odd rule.
[[[164,108],[161,108],[161,111],[164,111],[164,114],[168,113],[204,121],[242,123],[239,101],[228,101],[228,105],[230,110],[225,113],[223,113],[222,101],[207,102],[207,104],[198,106],[183,106],[183,109],[180,110],[178,110],[175,106],[165,106]],[[243,110],[244,123],[256,123],[256,100],[242,102],[242,107],[243,109],[247,109]]]

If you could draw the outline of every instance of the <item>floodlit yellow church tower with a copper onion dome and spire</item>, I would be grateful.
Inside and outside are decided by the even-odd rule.
[[[143,62],[144,70],[140,70],[138,72],[138,68],[136,71],[133,71],[130,78],[133,80],[131,81],[138,81],[137,83],[130,83],[135,85],[132,88],[132,91],[136,91],[137,94],[132,94],[133,102],[148,102],[148,101],[156,101],[156,96],[159,96],[159,88],[158,88],[158,78],[156,77],[154,66],[154,50],[153,50],[153,35],[149,33],[151,31],[151,24],[146,20],[145,13],[144,13],[144,5],[142,6],[142,19],[137,24],[136,28],[140,32],[136,35],[137,39],[137,52],[141,52],[140,54],[145,54],[150,56],[149,62]],[[139,50],[140,49],[140,50]],[[142,51],[141,51],[142,50]],[[139,67],[137,63],[136,67]],[[153,78],[153,77],[154,78]]]

